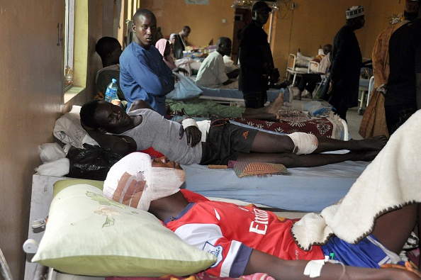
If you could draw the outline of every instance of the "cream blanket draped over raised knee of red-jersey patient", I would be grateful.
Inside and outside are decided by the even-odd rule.
[[[421,202],[421,111],[414,113],[391,135],[388,143],[355,181],[344,198],[308,213],[293,225],[303,250],[322,245],[330,235],[357,243],[369,235],[381,214],[412,202]]]

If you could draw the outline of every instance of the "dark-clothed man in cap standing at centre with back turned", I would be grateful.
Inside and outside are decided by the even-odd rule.
[[[242,30],[240,37],[239,88],[247,108],[261,108],[266,103],[267,75],[274,69],[274,59],[263,30],[272,9],[264,1],[252,7],[252,22]]]

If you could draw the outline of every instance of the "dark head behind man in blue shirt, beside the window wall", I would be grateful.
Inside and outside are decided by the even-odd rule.
[[[121,48],[121,44],[116,38],[103,37],[96,43],[95,51],[101,57],[102,66],[107,67],[118,64],[121,52],[123,52]]]

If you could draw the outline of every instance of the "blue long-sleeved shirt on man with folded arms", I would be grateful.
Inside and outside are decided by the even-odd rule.
[[[120,87],[128,108],[142,99],[165,116],[165,95],[174,89],[174,77],[154,45],[145,50],[132,42],[120,56]]]

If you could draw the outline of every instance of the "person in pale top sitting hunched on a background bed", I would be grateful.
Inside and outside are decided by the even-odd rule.
[[[232,42],[230,38],[220,37],[216,50],[203,60],[196,77],[196,86],[212,89],[238,89],[239,69],[226,72],[223,56],[230,55]]]

